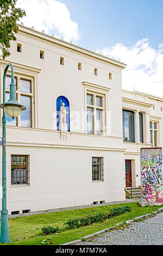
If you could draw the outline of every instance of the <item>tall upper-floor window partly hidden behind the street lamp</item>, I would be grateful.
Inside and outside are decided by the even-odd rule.
[[[9,86],[11,83],[11,77],[6,77],[6,101],[9,100]],[[22,126],[22,127],[32,127],[32,86],[30,80],[24,80],[23,78],[15,77],[15,84],[16,84],[16,97],[18,102],[22,105],[26,106],[26,110],[22,111],[19,123],[18,118],[10,118],[7,115],[7,125],[10,126]]]

